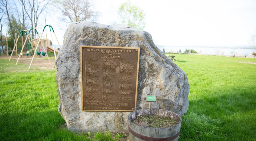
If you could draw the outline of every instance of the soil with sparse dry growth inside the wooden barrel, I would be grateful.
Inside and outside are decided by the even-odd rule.
[[[167,128],[178,123],[171,117],[160,115],[141,115],[134,119],[133,122],[137,125],[151,128]]]

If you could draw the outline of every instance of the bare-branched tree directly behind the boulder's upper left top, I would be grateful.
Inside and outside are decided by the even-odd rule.
[[[93,5],[91,5],[92,2],[89,2],[89,0],[55,0],[54,3],[62,15],[71,22],[82,20],[95,21],[99,15],[98,12],[92,10]],[[66,21],[66,18],[62,20]]]

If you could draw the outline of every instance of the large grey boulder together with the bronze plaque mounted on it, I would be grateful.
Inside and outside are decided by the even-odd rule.
[[[122,25],[70,23],[55,61],[59,113],[70,131],[128,131],[131,111],[187,112],[185,72],[146,31]]]

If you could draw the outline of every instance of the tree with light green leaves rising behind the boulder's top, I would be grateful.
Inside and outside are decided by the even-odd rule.
[[[139,30],[143,30],[145,27],[145,13],[138,6],[133,5],[130,0],[119,7],[118,16],[122,24]]]

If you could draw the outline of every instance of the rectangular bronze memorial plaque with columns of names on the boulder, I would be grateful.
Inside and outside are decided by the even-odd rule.
[[[135,111],[138,47],[81,46],[83,111]]]

